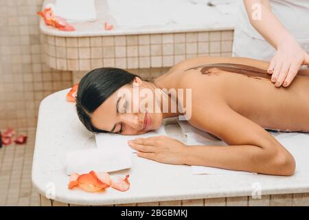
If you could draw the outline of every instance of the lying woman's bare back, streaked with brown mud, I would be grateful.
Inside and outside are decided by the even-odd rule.
[[[236,65],[209,67],[213,63]],[[253,68],[243,72],[241,65]],[[240,67],[238,71],[237,67]],[[198,105],[207,108],[216,97],[263,128],[309,132],[309,72],[302,70],[290,87],[277,88],[271,83],[270,76],[259,75],[255,69],[267,67],[268,63],[264,61],[247,58],[198,57],[173,67],[165,80],[172,82],[168,79],[178,78],[169,87],[192,88],[193,105],[198,100]]]

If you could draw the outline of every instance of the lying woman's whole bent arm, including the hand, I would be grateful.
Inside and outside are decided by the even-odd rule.
[[[293,175],[295,160],[262,127],[226,105],[209,104],[213,111],[196,111],[190,122],[213,133],[230,146],[186,146],[167,136],[137,138],[128,142],[139,157],[165,164],[212,166],[268,175]]]

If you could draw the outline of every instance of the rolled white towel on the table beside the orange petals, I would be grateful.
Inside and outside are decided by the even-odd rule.
[[[132,152],[125,148],[93,148],[67,153],[67,174],[89,173],[91,170],[112,172],[132,167]]]

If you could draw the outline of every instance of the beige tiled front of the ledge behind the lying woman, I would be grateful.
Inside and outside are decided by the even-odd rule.
[[[55,69],[87,71],[172,67],[201,55],[231,56],[233,30],[127,36],[45,36],[47,64]]]

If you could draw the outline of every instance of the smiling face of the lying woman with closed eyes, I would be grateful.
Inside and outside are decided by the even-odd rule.
[[[152,104],[145,101],[145,96],[141,96],[142,89],[151,90],[143,86],[140,78],[135,77],[133,83],[136,86],[135,95],[133,84],[124,85],[95,109],[91,115],[91,122],[95,128],[122,135],[138,135],[159,129],[163,115],[161,111],[154,111],[154,108],[160,109],[161,103],[155,98],[150,101]]]

